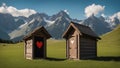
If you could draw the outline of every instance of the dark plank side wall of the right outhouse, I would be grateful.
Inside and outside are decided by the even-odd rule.
[[[96,57],[96,40],[90,37],[80,38],[80,59]]]

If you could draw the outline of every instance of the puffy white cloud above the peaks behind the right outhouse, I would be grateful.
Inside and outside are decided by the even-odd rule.
[[[85,15],[86,17],[89,17],[92,14],[97,15],[100,12],[104,11],[104,8],[105,6],[101,6],[101,5],[96,5],[96,4],[89,5],[85,8]]]

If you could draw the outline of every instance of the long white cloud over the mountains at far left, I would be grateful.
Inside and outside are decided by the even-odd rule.
[[[35,14],[36,11],[32,9],[27,9],[27,8],[18,10],[13,6],[6,6],[6,4],[3,3],[3,5],[0,7],[0,13],[9,13],[15,17],[18,17],[18,16],[29,17],[30,15]]]

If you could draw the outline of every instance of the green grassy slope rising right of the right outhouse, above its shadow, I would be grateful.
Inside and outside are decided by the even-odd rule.
[[[120,56],[120,25],[101,38],[98,42],[99,56]]]

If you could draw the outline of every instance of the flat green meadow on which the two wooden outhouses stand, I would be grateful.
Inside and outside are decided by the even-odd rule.
[[[49,59],[26,60],[23,42],[0,44],[0,68],[120,68],[120,46],[98,44],[99,58],[94,60],[65,60],[65,41],[48,40]],[[101,57],[102,56],[102,57]]]

